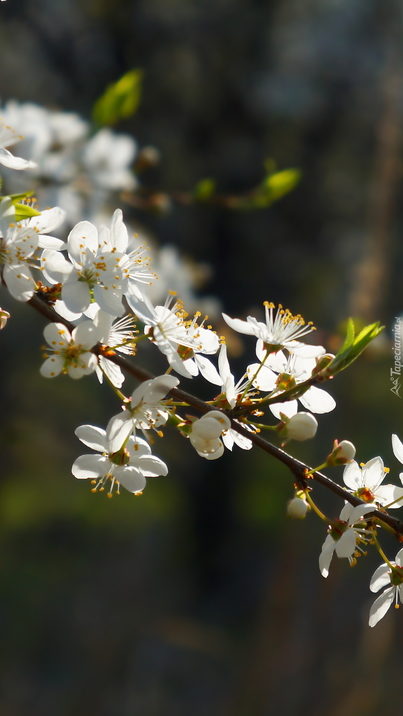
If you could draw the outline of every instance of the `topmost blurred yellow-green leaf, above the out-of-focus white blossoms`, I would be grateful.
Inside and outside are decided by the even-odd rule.
[[[94,104],[94,122],[102,127],[110,126],[134,115],[140,104],[142,77],[141,69],[131,69],[110,84]]]

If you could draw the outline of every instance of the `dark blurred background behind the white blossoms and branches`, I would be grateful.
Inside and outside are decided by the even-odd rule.
[[[347,316],[384,321],[384,339],[331,384],[338,407],[320,418],[318,439],[292,450],[319,464],[346,437],[359,462],[381,454],[393,483],[390,436],[403,437],[389,380],[403,309],[402,14],[393,0],[0,7],[2,102],[89,118],[109,82],[145,70],[140,109],[118,127],[161,150],[144,183],[188,190],[212,176],[241,192],[267,157],[301,168],[301,184],[264,211],[122,208],[162,245],[210,263],[206,290],[231,315],[281,301],[331,350]],[[312,515],[286,518],[290,475],[257,450],[207,463],[170,435],[155,445],[167,478],[149,479],[140,498],[92,495],[70,473],[81,454],[74,429],[104,426],[117,402],[93,376],[42,379],[41,317],[4,289],[0,304],[12,314],[0,336],[1,716],[395,709],[403,622],[397,611],[367,627],[376,553],[352,571],[334,558],[324,580],[326,528]],[[252,348],[238,347],[238,377]],[[151,352],[143,359],[153,366]],[[336,516],[339,502],[315,492]],[[399,545],[383,543],[394,557]]]

